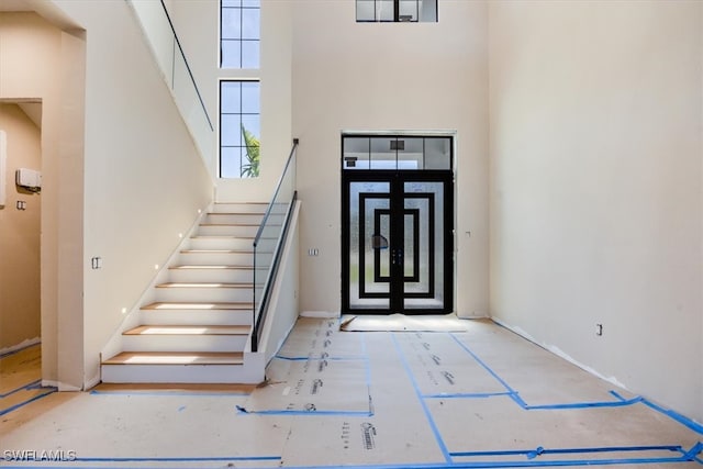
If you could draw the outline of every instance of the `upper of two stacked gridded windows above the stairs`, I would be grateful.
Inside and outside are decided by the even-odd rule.
[[[222,0],[221,68],[259,68],[260,18],[260,0]]]

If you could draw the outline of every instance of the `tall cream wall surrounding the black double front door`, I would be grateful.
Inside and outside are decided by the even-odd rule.
[[[304,209],[301,310],[341,308],[341,132],[456,131],[456,301],[488,311],[488,16],[442,1],[438,23],[356,23],[353,1],[293,10],[293,135]],[[469,236],[467,233],[470,232]]]

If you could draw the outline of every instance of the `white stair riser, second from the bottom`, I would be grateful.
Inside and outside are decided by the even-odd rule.
[[[124,351],[244,351],[246,335],[124,335]]]

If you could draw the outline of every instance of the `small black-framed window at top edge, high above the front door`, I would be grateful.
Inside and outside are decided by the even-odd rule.
[[[356,0],[357,23],[436,23],[437,0]]]

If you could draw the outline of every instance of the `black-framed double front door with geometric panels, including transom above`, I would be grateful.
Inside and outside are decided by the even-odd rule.
[[[446,314],[453,136],[342,136],[342,312]]]

